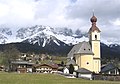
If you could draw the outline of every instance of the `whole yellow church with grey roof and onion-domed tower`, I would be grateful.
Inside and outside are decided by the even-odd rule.
[[[100,56],[100,29],[97,27],[97,18],[93,14],[90,19],[92,25],[88,31],[89,41],[83,41],[70,50],[67,58],[69,64],[74,62],[78,68],[84,68],[91,72],[99,73],[101,71]]]

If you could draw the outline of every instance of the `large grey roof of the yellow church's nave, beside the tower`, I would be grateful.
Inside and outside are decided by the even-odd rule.
[[[83,41],[83,42],[76,44],[75,46],[73,46],[71,51],[68,53],[67,58],[71,58],[74,56],[74,54],[78,54],[78,53],[93,54],[90,43]]]

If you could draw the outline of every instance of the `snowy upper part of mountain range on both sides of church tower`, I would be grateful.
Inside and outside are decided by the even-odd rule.
[[[10,28],[0,28],[0,44],[27,42],[44,47],[50,42],[60,46],[61,42],[74,45],[82,41],[88,41],[86,33],[82,33],[80,30],[74,33],[68,28],[52,28],[43,25],[19,28],[16,31],[12,31]],[[109,47],[114,44],[114,42],[108,42],[106,39],[102,39],[102,43],[107,44]]]

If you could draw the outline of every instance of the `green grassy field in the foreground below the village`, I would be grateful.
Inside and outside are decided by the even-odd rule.
[[[57,74],[0,73],[0,84],[120,84],[120,81],[70,79]]]

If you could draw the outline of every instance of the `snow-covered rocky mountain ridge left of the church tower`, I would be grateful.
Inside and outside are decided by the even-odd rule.
[[[22,42],[25,40],[34,40],[37,37],[41,37],[42,39],[44,38],[44,40],[53,37],[66,44],[76,44],[80,41],[88,39],[86,38],[85,34],[80,33],[79,35],[75,35],[72,32],[72,30],[68,28],[58,30],[49,26],[36,25],[27,28],[20,28],[14,34],[12,33],[12,31],[10,31],[10,28],[2,29],[3,29],[2,31],[9,30],[9,32],[8,31],[0,32],[1,34],[0,44]],[[33,42],[33,44],[34,43],[35,41]]]

